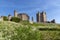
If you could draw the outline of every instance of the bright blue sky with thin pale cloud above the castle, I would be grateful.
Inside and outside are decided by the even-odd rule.
[[[0,0],[0,16],[13,16],[14,10],[25,12],[36,21],[38,11],[46,11],[47,20],[55,19],[60,23],[60,0]]]

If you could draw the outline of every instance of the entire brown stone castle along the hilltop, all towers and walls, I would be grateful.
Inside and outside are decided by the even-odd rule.
[[[29,21],[29,16],[26,13],[18,13],[16,10],[14,10],[14,17],[20,18],[21,20],[25,20],[25,21]],[[12,16],[9,14],[8,15],[8,20],[10,21],[12,18]],[[3,17],[0,17],[0,20],[3,20]],[[36,21],[38,23],[55,23],[55,19],[53,19],[52,21],[47,21],[47,17],[46,17],[46,12],[42,11],[36,14]],[[32,22],[34,22],[33,17],[32,17]]]

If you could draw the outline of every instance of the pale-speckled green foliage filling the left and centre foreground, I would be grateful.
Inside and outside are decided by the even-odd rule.
[[[40,32],[14,22],[0,22],[0,40],[40,40]]]

